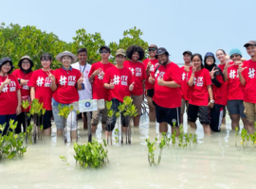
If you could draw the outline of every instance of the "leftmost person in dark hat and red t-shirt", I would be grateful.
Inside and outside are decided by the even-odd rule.
[[[9,57],[0,60],[0,125],[6,124],[2,135],[9,130],[9,120],[16,121],[21,113],[21,87],[17,78],[10,74],[13,68]]]

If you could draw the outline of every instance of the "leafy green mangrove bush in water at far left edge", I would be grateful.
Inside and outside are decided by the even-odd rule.
[[[4,129],[7,124],[0,125],[0,162],[5,159],[13,159],[16,156],[23,156],[27,151],[27,146],[24,146],[24,139],[26,137],[25,132],[15,134],[15,129],[17,127],[17,122],[14,120],[9,121],[9,129],[6,135],[3,135]]]

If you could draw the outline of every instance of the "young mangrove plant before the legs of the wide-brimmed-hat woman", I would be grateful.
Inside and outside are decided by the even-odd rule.
[[[63,117],[64,119],[64,143],[67,142],[67,123],[66,123],[66,119],[69,115],[70,112],[72,112],[74,110],[74,107],[73,105],[62,105],[62,104],[59,104],[58,105],[58,110],[59,110],[59,115],[61,117]],[[71,115],[71,123],[72,123],[72,115]],[[72,142],[72,134],[71,134],[71,128],[70,128],[70,140]]]

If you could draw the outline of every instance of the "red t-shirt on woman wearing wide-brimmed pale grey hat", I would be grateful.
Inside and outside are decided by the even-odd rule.
[[[64,70],[64,68],[59,68],[54,71],[53,75],[56,77],[57,90],[53,93],[52,97],[56,102],[72,104],[79,101],[76,84],[82,76],[81,72],[75,68],[71,68],[68,71]]]

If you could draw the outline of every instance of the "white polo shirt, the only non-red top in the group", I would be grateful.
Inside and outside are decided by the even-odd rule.
[[[92,85],[89,81],[89,72],[91,70],[91,64],[86,63],[85,65],[80,65],[79,61],[76,63],[71,64],[72,68],[80,70],[80,72],[83,74],[83,84],[84,84],[84,90],[79,90],[79,97],[80,100],[89,100],[92,99]],[[85,68],[84,68],[85,66]]]

